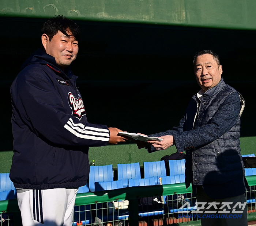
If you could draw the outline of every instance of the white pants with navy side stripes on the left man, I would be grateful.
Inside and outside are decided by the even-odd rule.
[[[23,226],[71,226],[77,189],[54,188],[17,193]]]

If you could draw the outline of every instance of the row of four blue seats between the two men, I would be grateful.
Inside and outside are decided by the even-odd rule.
[[[170,176],[166,176],[164,161],[144,162],[144,178],[140,175],[140,164],[117,164],[117,181],[113,179],[112,165],[90,167],[89,191],[112,190],[132,186],[147,186],[160,184],[185,182],[185,159],[169,160]],[[88,185],[80,188],[86,191]]]

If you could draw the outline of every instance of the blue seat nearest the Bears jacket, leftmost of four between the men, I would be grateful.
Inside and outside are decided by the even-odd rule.
[[[112,165],[90,166],[89,189],[95,191],[95,182],[113,181]]]

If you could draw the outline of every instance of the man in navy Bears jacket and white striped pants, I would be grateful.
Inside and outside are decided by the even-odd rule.
[[[79,27],[64,16],[45,22],[44,50],[23,64],[11,86],[14,156],[10,178],[23,226],[71,225],[75,196],[87,182],[89,147],[117,144],[121,130],[87,121],[76,76]]]

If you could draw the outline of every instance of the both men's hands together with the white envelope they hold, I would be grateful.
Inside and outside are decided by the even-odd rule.
[[[125,134],[122,130],[117,128],[112,128],[112,127],[109,128],[109,131],[110,131],[110,139],[109,139],[110,144],[117,144],[119,142],[125,142],[127,140],[134,140],[139,149],[148,148],[150,145],[153,145],[153,147],[156,150],[165,150],[166,148],[169,148],[174,144],[173,136],[171,135],[161,136],[161,137],[158,137],[157,139],[154,138],[153,140],[153,139],[138,139],[139,135],[142,135],[144,138],[147,137],[147,135],[144,135],[142,133],[137,133],[138,136],[136,136],[137,134],[134,134],[134,133]],[[121,134],[119,132],[121,132]]]

